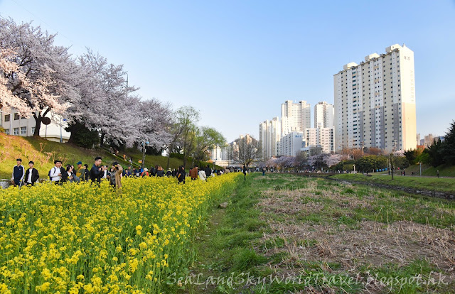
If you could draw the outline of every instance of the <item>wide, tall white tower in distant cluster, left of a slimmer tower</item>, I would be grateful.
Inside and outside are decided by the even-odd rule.
[[[282,104],[282,135],[311,128],[311,107],[306,101],[287,100]]]

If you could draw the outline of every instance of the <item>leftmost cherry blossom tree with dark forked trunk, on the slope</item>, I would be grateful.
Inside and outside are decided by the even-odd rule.
[[[9,52],[6,59],[17,65],[1,72],[3,87],[10,93],[2,104],[18,107],[21,116],[33,115],[34,136],[39,136],[41,121],[50,111],[64,114],[80,97],[75,87],[78,67],[68,48],[53,45],[54,38],[31,23],[0,19],[0,50]]]

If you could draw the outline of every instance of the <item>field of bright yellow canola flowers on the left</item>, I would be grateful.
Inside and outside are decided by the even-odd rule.
[[[107,182],[1,190],[0,293],[160,293],[239,177],[124,178],[122,195]]]

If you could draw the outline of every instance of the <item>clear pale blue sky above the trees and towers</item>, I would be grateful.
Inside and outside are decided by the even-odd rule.
[[[284,100],[333,103],[343,65],[395,43],[414,51],[417,132],[455,119],[453,0],[0,0],[0,15],[124,64],[142,97],[193,105],[228,141],[257,137]]]

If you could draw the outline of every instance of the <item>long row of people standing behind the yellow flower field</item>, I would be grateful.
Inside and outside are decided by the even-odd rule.
[[[34,168],[35,163],[33,161],[28,162],[28,169],[24,168],[22,165],[22,159],[18,158],[16,160],[16,165],[14,166],[11,182],[15,187],[21,187],[22,185],[35,185],[40,178],[40,174],[36,168]],[[95,158],[95,163],[93,163],[92,168],[89,169],[87,163],[82,164],[81,161],[75,165],[66,165],[63,167],[61,160],[54,161],[54,167],[48,171],[48,178],[55,184],[62,184],[65,182],[70,183],[80,183],[84,181],[91,181],[92,183],[101,183],[102,180],[109,180],[110,185],[113,187],[122,187],[122,178],[123,177],[168,177],[176,178],[178,183],[185,183],[186,171],[183,168],[183,165],[179,166],[178,169],[164,170],[161,165],[152,166],[148,168],[132,168],[131,165],[128,168],[122,168],[122,165],[114,162],[112,166],[102,165],[102,158],[100,156]],[[236,170],[233,170],[237,172]],[[238,170],[240,171],[240,170]],[[196,165],[194,168],[189,170],[189,177],[191,180],[203,180],[206,181],[208,178],[215,175],[223,175],[223,173],[230,173],[231,170],[228,168],[223,170],[216,170],[210,168],[210,165],[207,165],[205,168],[199,168]],[[246,168],[243,168],[243,172],[246,175]]]

